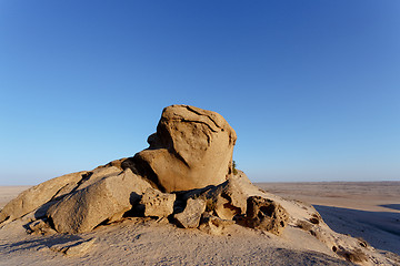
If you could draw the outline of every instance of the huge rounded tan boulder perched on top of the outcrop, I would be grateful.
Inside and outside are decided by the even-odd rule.
[[[171,105],[149,136],[150,147],[134,155],[131,167],[166,192],[219,185],[232,175],[236,140],[220,114]]]

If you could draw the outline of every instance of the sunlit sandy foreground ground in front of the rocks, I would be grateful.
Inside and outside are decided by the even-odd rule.
[[[0,232],[0,239],[3,237]],[[64,256],[48,248],[92,237],[96,246],[88,255]],[[78,236],[20,238],[23,241],[17,243],[0,241],[0,265],[350,265],[323,254],[326,250],[297,246],[286,236],[261,234],[238,225],[229,234],[218,236],[153,221],[139,225],[126,221]]]

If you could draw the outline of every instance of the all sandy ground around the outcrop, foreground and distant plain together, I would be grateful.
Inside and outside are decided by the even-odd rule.
[[[257,185],[312,203],[332,229],[400,254],[400,182]],[[0,203],[27,187],[0,187]],[[27,235],[21,225],[11,223],[0,231],[0,265],[349,265],[314,237],[301,238],[290,227],[274,236],[233,225],[214,236],[132,218],[87,234],[36,236]],[[88,254],[51,250],[56,244],[91,238],[96,244]]]

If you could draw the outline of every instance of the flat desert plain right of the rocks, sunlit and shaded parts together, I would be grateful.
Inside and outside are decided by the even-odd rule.
[[[400,254],[400,182],[258,183],[282,197],[311,203],[336,232]]]

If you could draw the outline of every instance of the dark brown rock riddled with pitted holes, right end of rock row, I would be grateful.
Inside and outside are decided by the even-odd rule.
[[[287,225],[289,215],[279,204],[260,197],[247,200],[246,225],[279,235]]]

